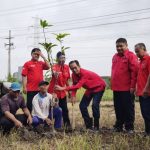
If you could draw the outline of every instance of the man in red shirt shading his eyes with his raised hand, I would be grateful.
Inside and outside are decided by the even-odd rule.
[[[23,93],[27,94],[27,107],[32,111],[32,99],[38,93],[38,85],[43,81],[43,70],[48,70],[50,65],[39,48],[31,51],[32,59],[26,62],[22,69]],[[39,57],[43,61],[39,61]]]

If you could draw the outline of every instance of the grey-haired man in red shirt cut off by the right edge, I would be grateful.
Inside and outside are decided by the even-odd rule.
[[[150,56],[147,54],[144,43],[135,45],[135,53],[140,59],[136,94],[139,96],[145,133],[150,136]]]

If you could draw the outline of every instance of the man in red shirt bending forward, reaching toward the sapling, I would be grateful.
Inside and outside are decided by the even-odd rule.
[[[93,99],[92,111],[94,117],[94,129],[99,130],[100,110],[99,104],[105,90],[105,82],[94,72],[80,68],[77,60],[71,61],[69,67],[72,70],[73,85],[67,87],[56,86],[57,90],[72,91],[72,102],[75,102],[76,91],[83,87],[86,92],[80,102],[80,111],[87,129],[93,129],[93,119],[90,118],[87,107]]]

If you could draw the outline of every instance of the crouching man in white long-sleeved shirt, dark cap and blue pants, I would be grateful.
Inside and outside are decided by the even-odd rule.
[[[40,124],[52,125],[52,114],[50,111],[52,95],[47,93],[49,83],[41,81],[39,83],[39,93],[34,96],[32,101],[33,126]],[[54,127],[56,130],[62,127],[62,110],[57,105],[53,109]]]

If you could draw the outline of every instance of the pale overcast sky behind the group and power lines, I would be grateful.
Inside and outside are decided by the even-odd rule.
[[[14,37],[12,73],[30,59],[34,44],[42,42],[41,30],[33,28],[38,22],[35,17],[54,25],[47,33],[53,42],[51,33],[71,34],[64,42],[71,47],[66,52],[67,63],[78,59],[82,67],[102,76],[110,75],[117,38],[127,38],[132,51],[138,42],[150,49],[149,0],[0,0],[0,4],[0,79],[8,71],[4,43],[9,30]],[[34,39],[34,31],[39,39]]]

